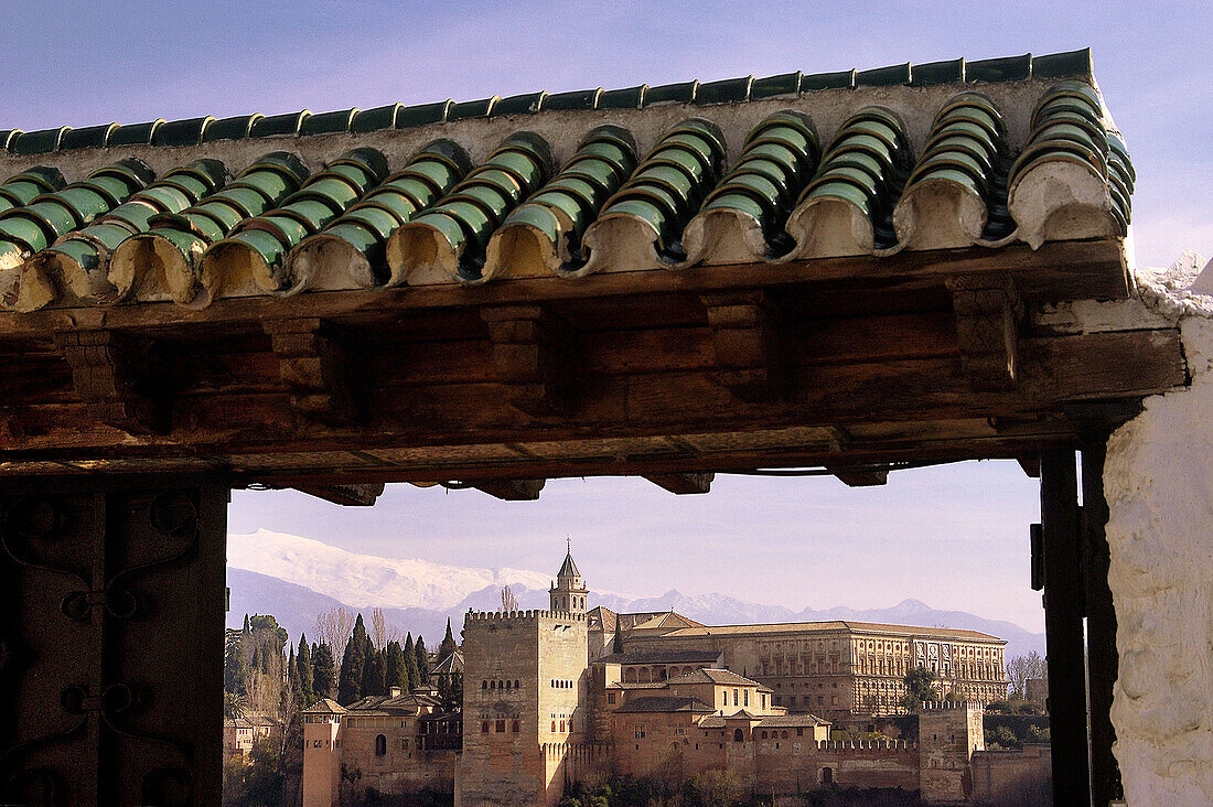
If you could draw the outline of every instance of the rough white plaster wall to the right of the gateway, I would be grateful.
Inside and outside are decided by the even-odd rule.
[[[1118,303],[1178,322],[1192,375],[1107,444],[1112,722],[1131,805],[1213,805],[1213,297],[1186,291],[1198,266],[1139,273],[1149,312]]]

